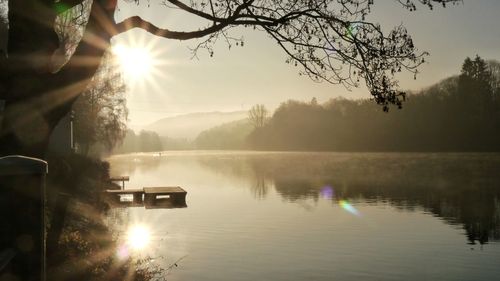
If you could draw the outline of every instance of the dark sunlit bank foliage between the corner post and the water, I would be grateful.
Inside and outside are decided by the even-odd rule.
[[[102,191],[112,187],[109,164],[79,155],[49,157],[47,184],[49,280],[165,280],[149,258],[120,259],[105,218]],[[67,204],[66,211],[61,205]],[[58,222],[63,222],[58,229]]]

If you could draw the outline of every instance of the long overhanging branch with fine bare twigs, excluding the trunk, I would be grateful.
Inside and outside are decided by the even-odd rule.
[[[420,3],[433,9],[434,4],[455,4],[460,0],[395,0],[403,8],[415,10]],[[262,28],[287,54],[287,63],[302,66],[301,74],[314,81],[357,87],[364,80],[374,100],[383,105],[401,106],[404,93],[397,90],[394,75],[402,70],[416,75],[426,52],[419,52],[402,26],[385,33],[365,20],[375,0],[178,0],[165,3],[211,22],[194,31],[158,28],[140,17],[132,17],[117,26],[117,33],[142,28],[154,35],[188,40],[207,37],[192,49],[213,55],[212,45],[223,38],[229,47],[234,37],[227,35],[233,26]],[[238,41],[237,41],[238,42]],[[242,42],[242,41],[240,41]]]

